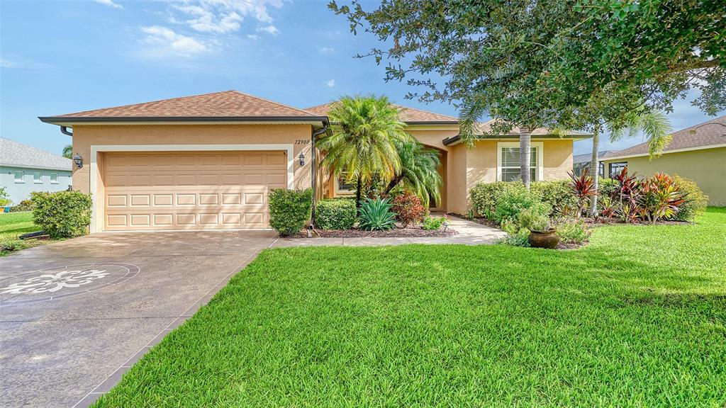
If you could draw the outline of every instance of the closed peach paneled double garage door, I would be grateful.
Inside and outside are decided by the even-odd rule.
[[[106,153],[103,168],[107,231],[268,228],[267,193],[287,186],[282,151]]]

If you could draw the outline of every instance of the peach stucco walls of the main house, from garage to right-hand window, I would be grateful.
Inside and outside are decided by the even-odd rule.
[[[293,144],[295,158],[303,152],[305,166],[295,160],[294,186],[297,189],[310,187],[311,151],[310,144],[295,144],[309,141],[310,125],[85,125],[73,128],[73,151],[89,163],[91,145],[107,144]],[[420,126],[409,128],[409,134],[417,140],[441,152],[444,168],[441,210],[449,213],[466,214],[469,205],[469,189],[478,182],[492,182],[497,179],[497,141],[477,142],[468,149],[465,144],[445,146],[442,141],[458,134],[452,126]],[[508,139],[515,142],[517,139]],[[544,154],[544,180],[566,179],[572,169],[572,141],[564,139],[532,139],[542,141]],[[103,155],[96,158],[102,163]],[[102,166],[96,166],[97,172]],[[90,166],[73,171],[73,188],[89,192]],[[333,180],[325,170],[318,172],[319,195],[332,197]],[[97,173],[97,195],[103,194],[103,177]],[[97,203],[97,214],[102,203]]]

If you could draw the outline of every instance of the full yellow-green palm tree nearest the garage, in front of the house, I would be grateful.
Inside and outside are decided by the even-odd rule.
[[[325,152],[320,162],[335,176],[347,172],[346,181],[356,183],[356,205],[364,184],[373,179],[386,183],[401,172],[396,142],[412,140],[404,131],[399,111],[387,97],[343,97],[328,112],[333,132],[318,146]]]

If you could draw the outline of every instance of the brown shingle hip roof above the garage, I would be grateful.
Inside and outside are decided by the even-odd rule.
[[[313,113],[272,102],[267,99],[242,94],[239,91],[222,91],[213,94],[194,95],[144,102],[135,105],[106,107],[77,113],[58,115],[55,118],[151,118],[151,117],[314,117]]]

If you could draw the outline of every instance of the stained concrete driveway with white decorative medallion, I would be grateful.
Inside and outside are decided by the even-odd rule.
[[[102,233],[0,258],[0,407],[86,407],[275,235]]]

